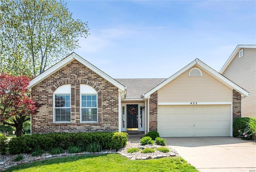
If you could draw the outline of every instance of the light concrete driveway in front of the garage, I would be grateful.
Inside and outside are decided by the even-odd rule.
[[[201,172],[256,172],[256,144],[234,137],[166,137]]]

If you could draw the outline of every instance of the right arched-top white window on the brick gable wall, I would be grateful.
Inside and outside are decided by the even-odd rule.
[[[91,86],[80,84],[81,122],[98,121],[98,94]]]

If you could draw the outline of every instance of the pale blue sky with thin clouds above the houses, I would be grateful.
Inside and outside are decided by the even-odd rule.
[[[256,1],[74,1],[88,21],[78,55],[112,78],[168,78],[198,58],[219,71],[238,44],[256,44]]]

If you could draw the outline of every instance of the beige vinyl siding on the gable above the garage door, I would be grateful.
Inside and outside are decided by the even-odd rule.
[[[194,67],[197,66],[193,66],[192,68]],[[232,102],[232,89],[202,69],[202,76],[189,77],[188,72],[190,69],[158,90],[158,103]]]

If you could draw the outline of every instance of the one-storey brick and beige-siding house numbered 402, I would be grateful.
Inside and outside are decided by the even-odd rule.
[[[232,136],[248,92],[199,59],[170,78],[113,79],[76,53],[30,81],[43,104],[31,132],[158,131],[161,137]]]

